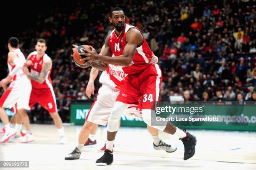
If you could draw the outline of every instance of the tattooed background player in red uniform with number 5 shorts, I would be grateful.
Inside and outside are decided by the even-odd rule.
[[[26,62],[28,63],[28,60],[31,61],[31,72],[29,72],[26,65],[23,66],[23,71],[28,78],[31,79],[32,84],[29,106],[32,108],[34,104],[39,102],[42,107],[44,107],[44,109],[50,113],[60,135],[59,143],[65,144],[66,139],[64,127],[62,126],[62,120],[57,111],[55,94],[51,84],[50,74],[52,61],[51,58],[45,53],[46,49],[46,41],[44,39],[38,39],[36,43],[36,51],[28,55]],[[27,117],[27,114],[23,114],[22,117]],[[27,137],[27,141],[29,142],[29,134],[25,137]],[[25,140],[24,142],[26,142]]]

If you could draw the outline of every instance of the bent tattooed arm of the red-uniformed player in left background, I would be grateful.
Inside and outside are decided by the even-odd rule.
[[[34,81],[37,81],[38,83],[44,83],[46,77],[47,77],[47,74],[48,72],[50,71],[52,67],[52,62],[51,62],[51,59],[46,59],[42,65],[42,70],[41,70],[41,73],[39,74],[39,76],[35,76],[35,75],[32,75],[28,68],[27,67],[24,67],[23,66],[23,71],[24,73],[32,80]]]

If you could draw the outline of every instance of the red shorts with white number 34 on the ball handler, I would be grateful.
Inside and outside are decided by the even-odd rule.
[[[151,65],[143,72],[128,74],[116,101],[138,104],[142,96],[141,109],[154,109],[159,98],[162,72],[158,64]]]

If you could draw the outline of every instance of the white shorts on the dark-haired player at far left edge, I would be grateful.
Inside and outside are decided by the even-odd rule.
[[[0,98],[0,107],[12,108],[17,103],[17,109],[30,110],[28,103],[31,89],[32,86],[29,79],[19,79],[11,82]]]

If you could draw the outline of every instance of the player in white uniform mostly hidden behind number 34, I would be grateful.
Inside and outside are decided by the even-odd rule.
[[[74,47],[77,47],[77,46],[74,46]],[[73,50],[75,49],[76,48],[73,48]],[[105,49],[105,46],[102,47],[101,53],[104,51],[104,49]],[[156,56],[155,58],[152,58],[149,64],[156,64],[158,61],[156,58],[157,58]],[[97,77],[98,70],[93,68],[93,66],[94,65],[92,65],[92,70],[90,73],[90,80],[91,80],[91,76],[93,76],[93,81],[94,81],[95,78]],[[100,83],[102,84],[102,86],[100,87],[98,91],[98,95],[94,103],[92,104],[90,111],[87,114],[87,117],[85,119],[86,121],[84,122],[84,126],[82,127],[79,134],[78,144],[75,147],[75,149],[67,157],[65,157],[65,160],[79,159],[82,152],[82,147],[84,146],[84,142],[88,140],[90,131],[95,126],[97,126],[96,124],[100,124],[102,126],[107,125],[108,118],[110,116],[111,110],[114,107],[115,100],[120,92],[120,89],[124,84],[125,76],[126,74],[123,72],[121,66],[114,66],[111,64],[109,64],[108,68],[102,72],[100,76]],[[130,105],[128,109],[125,110],[124,114],[128,116],[135,116],[135,117],[142,118],[140,109],[138,105],[135,105],[135,104]],[[151,134],[152,139],[154,141],[153,142],[154,149],[165,150],[166,152],[174,152],[177,150],[176,147],[172,147],[171,145],[168,145],[159,139],[157,129],[148,126],[148,132]]]

